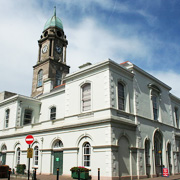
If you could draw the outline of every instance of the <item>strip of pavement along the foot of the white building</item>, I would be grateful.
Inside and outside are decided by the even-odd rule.
[[[8,178],[0,178],[0,180],[7,180],[7,179]],[[24,178],[11,177],[10,179],[11,180],[23,180]],[[56,175],[37,175],[37,180],[57,180],[57,176]],[[59,180],[73,180],[73,179],[69,176],[62,175],[62,176],[59,176]],[[155,177],[155,178],[146,178],[146,179],[142,179],[142,180],[180,180],[180,174],[172,175],[170,177]]]

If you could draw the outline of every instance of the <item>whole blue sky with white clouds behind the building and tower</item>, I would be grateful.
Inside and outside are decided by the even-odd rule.
[[[86,62],[128,60],[180,97],[179,0],[0,0],[0,91],[30,95],[37,40],[54,6],[71,72]]]

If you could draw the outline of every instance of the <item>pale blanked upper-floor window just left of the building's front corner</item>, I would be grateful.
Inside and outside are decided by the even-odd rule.
[[[82,110],[91,109],[91,84],[86,83],[82,86]]]

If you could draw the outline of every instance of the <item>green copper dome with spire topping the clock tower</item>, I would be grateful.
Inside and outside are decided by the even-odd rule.
[[[63,30],[62,21],[56,17],[56,7],[54,7],[54,15],[47,20],[46,24],[44,25],[44,30],[49,27],[58,27]]]

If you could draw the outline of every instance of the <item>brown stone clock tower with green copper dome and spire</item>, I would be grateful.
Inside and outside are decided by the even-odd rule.
[[[64,84],[65,75],[69,73],[69,66],[66,65],[68,41],[62,21],[56,17],[56,8],[54,15],[46,22],[38,44],[38,61],[33,66],[32,97],[46,92],[44,85],[47,83],[51,89]]]

